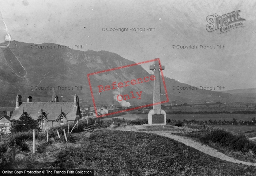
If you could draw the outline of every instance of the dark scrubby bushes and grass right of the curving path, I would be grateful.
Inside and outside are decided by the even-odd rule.
[[[209,128],[208,126],[197,132],[175,133],[175,135],[192,138],[235,159],[256,163],[256,142],[249,140],[245,135],[249,132],[235,133],[223,128]]]

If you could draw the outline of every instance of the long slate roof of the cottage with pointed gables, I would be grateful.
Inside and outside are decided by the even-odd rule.
[[[11,120],[18,120],[24,112],[28,113],[30,117],[37,120],[41,115],[41,109],[47,116],[48,121],[55,121],[62,112],[65,114],[67,121],[76,120],[76,112],[79,104],[74,106],[74,102],[23,102],[18,108],[15,107]]]

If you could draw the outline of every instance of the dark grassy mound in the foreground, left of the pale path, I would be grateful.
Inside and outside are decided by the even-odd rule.
[[[43,150],[20,153],[13,169],[94,169],[95,176],[255,175],[256,167],[208,156],[172,139],[151,133],[99,129],[74,142],[50,139]]]

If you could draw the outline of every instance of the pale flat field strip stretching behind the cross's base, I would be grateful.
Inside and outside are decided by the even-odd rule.
[[[208,121],[212,120],[226,120],[226,121],[233,121],[233,118],[236,118],[237,121],[240,120],[252,120],[252,118],[256,117],[256,114],[167,114],[167,119],[174,119],[174,120],[197,120],[197,121]],[[115,118],[115,117],[111,117]],[[105,119],[111,119],[105,118]],[[125,114],[123,116],[118,116],[116,118],[125,118],[127,120],[134,120],[136,118],[147,118],[147,114]]]

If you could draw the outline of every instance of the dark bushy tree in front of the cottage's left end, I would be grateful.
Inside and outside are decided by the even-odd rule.
[[[27,132],[30,130],[40,130],[39,124],[32,117],[22,116],[19,120],[11,120],[11,132]]]

